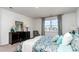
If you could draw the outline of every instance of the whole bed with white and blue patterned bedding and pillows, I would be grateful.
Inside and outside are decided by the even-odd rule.
[[[21,43],[22,52],[78,52],[79,35],[73,37],[70,33],[64,36],[51,38],[50,36],[37,36]],[[52,40],[50,40],[52,39]]]

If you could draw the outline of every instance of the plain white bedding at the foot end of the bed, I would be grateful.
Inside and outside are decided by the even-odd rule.
[[[32,47],[42,36],[37,36],[22,43],[22,52],[32,52]]]

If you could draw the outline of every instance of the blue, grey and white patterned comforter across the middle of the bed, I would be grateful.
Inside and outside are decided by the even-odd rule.
[[[53,41],[53,39],[55,41]],[[59,36],[55,36],[53,39],[51,36],[43,36],[40,40],[38,40],[35,43],[32,51],[33,52],[53,52],[53,51],[56,52],[58,47],[58,45],[56,44],[56,40],[59,39]]]

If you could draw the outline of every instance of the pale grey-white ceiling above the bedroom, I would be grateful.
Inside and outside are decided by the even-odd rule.
[[[70,13],[76,11],[77,7],[12,7],[9,9],[11,11],[23,14],[28,17],[37,18],[37,17],[48,17],[55,16],[64,13]]]

